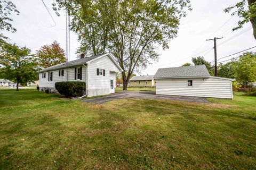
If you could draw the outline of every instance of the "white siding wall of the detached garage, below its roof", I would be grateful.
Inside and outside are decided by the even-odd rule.
[[[188,80],[193,86],[187,86]],[[157,95],[233,98],[231,80],[219,78],[157,79]]]

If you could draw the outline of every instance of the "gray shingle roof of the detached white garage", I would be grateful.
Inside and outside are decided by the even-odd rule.
[[[158,69],[154,78],[210,77],[205,65]]]

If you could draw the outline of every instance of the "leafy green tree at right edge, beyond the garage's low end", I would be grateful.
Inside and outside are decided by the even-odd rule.
[[[245,84],[256,81],[256,54],[246,52],[239,56],[235,66],[235,78]]]

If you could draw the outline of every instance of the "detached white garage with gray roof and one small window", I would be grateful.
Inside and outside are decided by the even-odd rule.
[[[212,77],[205,65],[158,69],[157,95],[233,98],[234,79]]]

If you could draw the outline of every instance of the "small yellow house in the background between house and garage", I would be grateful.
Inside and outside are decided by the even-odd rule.
[[[130,79],[130,87],[155,87],[154,75],[134,76]]]

